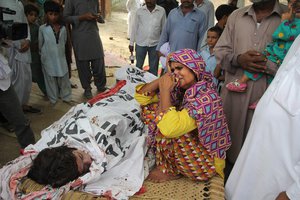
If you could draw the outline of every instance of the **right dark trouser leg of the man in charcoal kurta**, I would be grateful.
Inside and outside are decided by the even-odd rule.
[[[94,84],[98,92],[104,92],[106,85],[106,73],[104,57],[92,60],[91,66],[93,70]]]

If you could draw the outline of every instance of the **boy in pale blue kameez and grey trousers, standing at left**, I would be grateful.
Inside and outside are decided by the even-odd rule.
[[[55,104],[60,96],[71,101],[71,83],[65,55],[67,32],[60,23],[60,5],[54,1],[44,4],[46,24],[39,29],[39,49],[45,77],[47,95]]]

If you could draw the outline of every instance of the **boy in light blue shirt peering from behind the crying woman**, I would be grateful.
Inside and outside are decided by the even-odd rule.
[[[206,67],[205,70],[207,72],[210,72],[214,76],[214,71],[217,66],[217,61],[214,56],[214,47],[218,42],[218,39],[220,38],[222,34],[222,29],[218,26],[213,26],[208,29],[207,36],[206,36],[206,43],[207,45],[202,48],[200,51],[200,55],[202,56],[203,60],[205,61]],[[219,67],[219,66],[218,66]],[[213,78],[213,82],[218,85],[219,81],[217,79],[218,77]]]

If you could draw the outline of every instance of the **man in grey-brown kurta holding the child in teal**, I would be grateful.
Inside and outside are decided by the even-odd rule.
[[[238,9],[229,16],[214,48],[217,63],[225,70],[224,85],[241,77],[244,69],[265,74],[276,73],[277,68],[270,65],[270,61],[267,61],[261,52],[266,44],[272,41],[272,33],[280,24],[280,15],[286,7],[277,0],[252,0],[252,2],[258,3]],[[263,15],[258,15],[259,12]],[[249,81],[245,93],[231,92],[226,87],[221,91],[232,139],[232,145],[227,151],[227,161],[231,164],[234,164],[242,148],[252,120],[254,111],[248,107],[260,99],[266,88],[265,75],[257,81]]]

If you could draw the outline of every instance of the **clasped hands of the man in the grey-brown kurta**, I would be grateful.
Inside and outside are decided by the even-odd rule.
[[[266,69],[266,57],[258,51],[250,50],[238,56],[238,64],[250,72],[264,72]]]

